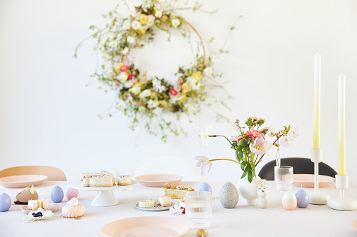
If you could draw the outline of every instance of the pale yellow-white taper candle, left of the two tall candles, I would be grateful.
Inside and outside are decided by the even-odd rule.
[[[321,110],[321,55],[314,57],[314,135],[313,147],[320,149],[320,110]]]

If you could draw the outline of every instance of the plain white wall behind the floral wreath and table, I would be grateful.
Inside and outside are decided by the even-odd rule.
[[[235,96],[227,101],[232,110],[225,115],[232,121],[244,120],[248,115],[265,117],[267,126],[274,127],[297,125],[300,136],[292,147],[281,149],[282,157],[310,155],[314,53],[318,51],[322,57],[323,161],[337,169],[337,76],[340,72],[346,74],[347,174],[356,179],[353,146],[357,121],[357,2],[203,2],[206,9],[220,11],[215,15],[182,15],[204,38],[215,37],[213,48],[220,48],[231,22],[243,15],[227,43],[229,55],[217,65],[224,73],[222,80],[229,81],[227,90]],[[97,89],[96,82],[86,87],[96,66],[93,41],[81,48],[79,59],[72,55],[76,43],[90,34],[88,26],[105,24],[101,14],[116,3],[0,1],[0,169],[58,166],[75,180],[79,171],[115,172],[120,164],[137,169],[159,155],[180,155],[192,164],[196,155],[234,159],[223,139],[211,139],[208,149],[198,147],[194,131],[198,127],[213,123],[213,134],[234,135],[231,124],[215,123],[209,110],[198,117],[194,129],[187,125],[188,136],[170,137],[166,144],[145,131],[140,136],[139,131],[131,131],[128,120],[119,113],[98,119],[97,115],[110,107],[114,94]],[[156,52],[158,47],[156,43],[145,50]],[[171,70],[181,62],[170,59],[167,62],[159,56],[152,57],[160,65],[155,66],[154,73],[172,75]],[[263,164],[275,159],[272,153]],[[238,166],[220,161],[213,164],[208,178],[238,179],[239,175]]]

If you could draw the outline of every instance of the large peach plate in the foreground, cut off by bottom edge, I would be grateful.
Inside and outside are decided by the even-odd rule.
[[[189,224],[173,217],[131,217],[116,220],[102,228],[108,237],[177,237],[189,231]]]

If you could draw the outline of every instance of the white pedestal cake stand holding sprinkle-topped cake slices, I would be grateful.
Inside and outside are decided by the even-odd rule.
[[[83,187],[81,181],[72,182],[71,187],[73,189],[84,190],[84,191],[97,191],[97,195],[90,203],[92,206],[115,206],[119,203],[118,199],[113,194],[113,190],[126,189],[128,187],[134,187],[137,185],[135,180],[130,180],[130,185],[119,186],[114,185],[113,187]]]

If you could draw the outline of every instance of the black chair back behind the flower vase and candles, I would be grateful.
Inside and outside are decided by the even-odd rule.
[[[266,180],[274,180],[274,166],[276,166],[276,160],[269,161],[263,166],[259,172],[259,177]],[[314,163],[308,158],[282,158],[281,166],[294,167],[294,173],[310,173],[314,174]],[[328,175],[335,178],[337,172],[323,162],[318,163],[318,174]]]

